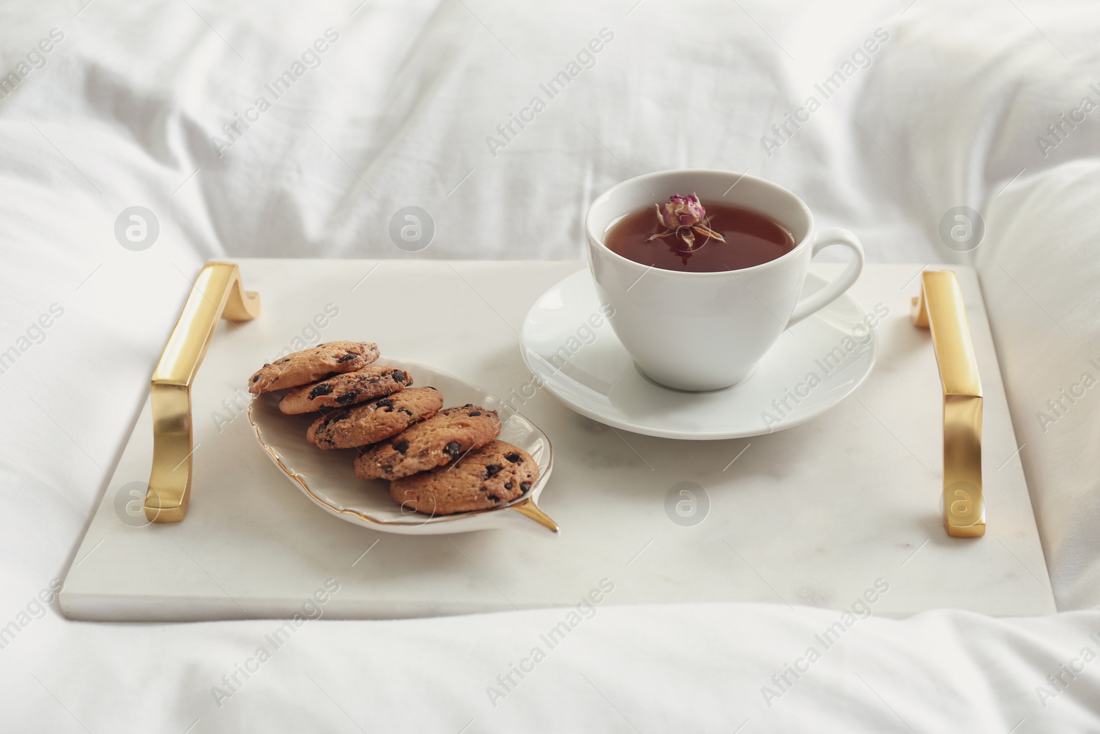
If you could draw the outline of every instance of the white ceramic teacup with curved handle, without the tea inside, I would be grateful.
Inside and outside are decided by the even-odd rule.
[[[794,249],[762,265],[715,273],[642,265],[607,249],[604,235],[614,222],[674,194],[696,194],[704,207],[722,202],[761,213],[794,235]],[[691,392],[745,380],[784,329],[839,297],[864,269],[855,234],[816,231],[809,207],[794,194],[727,171],[662,171],[625,180],[592,202],[585,231],[596,289],[614,308],[609,320],[623,346],[650,380]],[[851,263],[799,300],[810,259],[831,244],[851,250]]]

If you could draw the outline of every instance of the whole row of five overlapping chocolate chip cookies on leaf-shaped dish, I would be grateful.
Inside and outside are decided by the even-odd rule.
[[[265,364],[253,394],[286,391],[279,410],[320,415],[306,439],[321,449],[356,449],[355,475],[389,480],[389,496],[428,515],[487,510],[510,502],[538,479],[535,460],[496,440],[496,410],[470,403],[443,407],[435,387],[372,364],[378,346],[330,341]]]

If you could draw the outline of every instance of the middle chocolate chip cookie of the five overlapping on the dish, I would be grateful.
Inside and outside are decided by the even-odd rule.
[[[377,443],[426,420],[443,407],[435,387],[411,387],[370,403],[326,413],[314,421],[306,438],[322,449],[351,449]]]

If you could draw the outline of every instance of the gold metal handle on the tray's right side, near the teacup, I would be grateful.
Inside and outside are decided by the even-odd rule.
[[[947,535],[986,534],[981,486],[981,380],[963,292],[954,271],[925,271],[913,298],[913,325],[932,330],[944,387],[944,527]]]

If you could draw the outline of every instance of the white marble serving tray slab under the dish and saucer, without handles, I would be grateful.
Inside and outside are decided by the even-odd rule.
[[[888,311],[877,327],[876,370],[853,397],[803,426],[721,441],[615,430],[532,384],[519,355],[524,315],[583,263],[240,265],[263,310],[240,328],[222,322],[196,379],[187,518],[144,526],[127,512],[148,476],[146,404],[65,579],[61,604],[72,618],[284,617],[310,605],[333,618],[427,616],[574,605],[602,582],[614,589],[604,603],[615,604],[847,610],[873,598],[877,614],[1055,611],[968,267],[953,269],[986,393],[989,524],[985,537],[969,539],[948,537],[942,525],[939,384],[928,333],[908,315],[917,264],[869,265],[853,291],[867,310]],[[815,271],[832,276],[836,266]],[[407,299],[410,292],[418,297]],[[310,504],[256,445],[244,380],[284,349],[334,339],[370,339],[436,365],[539,425],[554,446],[540,505],[560,537],[534,524],[530,533],[383,535]]]

